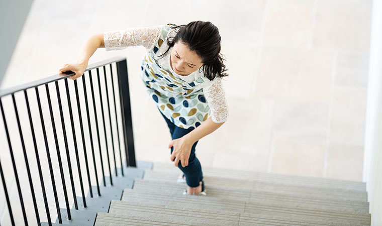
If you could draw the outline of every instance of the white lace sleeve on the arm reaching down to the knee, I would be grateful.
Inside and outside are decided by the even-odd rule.
[[[214,123],[223,123],[228,120],[228,105],[221,78],[215,78],[210,85],[203,88],[203,93],[211,109],[211,118]]]

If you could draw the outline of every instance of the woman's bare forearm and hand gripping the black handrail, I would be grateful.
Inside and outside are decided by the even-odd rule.
[[[79,51],[77,63],[64,64],[64,67],[61,68],[59,72],[73,71],[75,75],[71,76],[69,79],[75,80],[79,78],[87,68],[90,57],[100,47],[105,47],[104,33],[88,37]]]

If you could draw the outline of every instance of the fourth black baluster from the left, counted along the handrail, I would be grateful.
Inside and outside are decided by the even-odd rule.
[[[41,119],[41,127],[42,132],[44,135],[44,142],[45,142],[45,149],[46,149],[46,155],[48,158],[48,165],[49,165],[49,171],[50,171],[50,178],[52,180],[52,187],[53,187],[53,193],[54,193],[54,200],[56,202],[56,209],[57,209],[57,216],[59,223],[62,223],[61,213],[60,213],[60,205],[58,202],[58,196],[57,196],[57,190],[56,190],[56,182],[54,181],[54,173],[53,173],[53,166],[52,166],[52,160],[50,158],[50,151],[49,151],[49,145],[48,145],[48,138],[46,137],[46,129],[45,129],[45,123],[44,123],[44,117],[42,114],[42,108],[41,108],[41,101],[40,101],[40,95],[38,86],[35,87],[36,89],[36,96],[37,96],[37,104],[39,106],[39,112],[40,112],[40,119]]]

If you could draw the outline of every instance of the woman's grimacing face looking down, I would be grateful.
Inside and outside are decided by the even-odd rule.
[[[203,66],[202,59],[188,46],[178,41],[170,53],[170,65],[178,75],[189,75]]]

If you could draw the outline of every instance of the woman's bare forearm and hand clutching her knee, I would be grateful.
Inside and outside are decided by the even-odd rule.
[[[204,121],[199,127],[184,135],[181,138],[172,140],[168,144],[168,148],[174,147],[174,150],[171,154],[171,161],[175,162],[175,166],[178,166],[179,160],[182,164],[182,167],[188,165],[188,158],[191,153],[191,148],[195,144],[195,142],[199,141],[203,137],[211,134],[219,127],[221,127],[223,123],[214,123],[212,118],[208,118]]]

